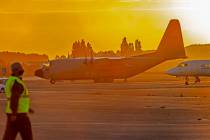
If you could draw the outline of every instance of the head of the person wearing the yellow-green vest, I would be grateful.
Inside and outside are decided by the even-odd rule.
[[[11,65],[11,71],[13,76],[22,76],[24,73],[23,66],[19,62],[15,62]]]

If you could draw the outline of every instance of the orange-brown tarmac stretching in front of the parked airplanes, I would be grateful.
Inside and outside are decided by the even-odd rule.
[[[210,79],[145,73],[127,83],[26,78],[35,140],[209,140]],[[0,137],[6,116],[0,95]],[[17,140],[20,140],[18,138]]]

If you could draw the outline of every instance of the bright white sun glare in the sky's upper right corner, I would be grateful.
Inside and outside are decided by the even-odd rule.
[[[175,4],[176,14],[182,18],[185,28],[201,39],[201,43],[210,41],[209,5],[209,0],[184,0]]]

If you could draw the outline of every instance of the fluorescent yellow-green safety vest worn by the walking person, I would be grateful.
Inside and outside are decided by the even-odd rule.
[[[12,96],[12,93],[11,93],[12,86],[14,85],[15,81],[17,81],[19,84],[21,84],[24,88],[23,93],[19,97],[17,113],[28,113],[29,108],[30,108],[30,99],[29,99],[28,89],[27,89],[26,85],[24,84],[24,82],[15,76],[10,76],[6,82],[6,87],[5,87],[5,94],[7,97],[6,113],[7,114],[12,113],[12,110],[10,108],[10,103],[11,103],[10,100],[11,100],[11,96]]]

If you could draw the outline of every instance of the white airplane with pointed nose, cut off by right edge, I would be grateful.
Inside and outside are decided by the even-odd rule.
[[[200,83],[199,77],[210,77],[210,60],[185,61],[166,73],[176,77],[185,77],[186,85],[189,85],[189,77],[195,77],[195,83]]]

